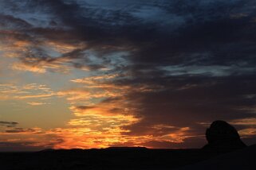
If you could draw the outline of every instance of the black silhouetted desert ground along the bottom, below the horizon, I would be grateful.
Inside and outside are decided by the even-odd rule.
[[[249,150],[252,161],[256,162],[255,146],[242,151],[207,151],[202,149],[72,149],[72,150],[45,150],[36,153],[0,153],[0,169],[2,170],[65,170],[65,169],[197,169],[200,164],[209,160],[223,161],[222,156],[229,157],[237,154],[239,161]],[[252,149],[254,149],[252,151]],[[240,153],[239,153],[240,152]],[[254,154],[255,152],[255,154]],[[235,153],[235,154],[234,154]],[[255,156],[255,157],[254,157]],[[220,158],[219,158],[220,157]],[[204,161],[206,160],[206,161]],[[246,159],[247,160],[247,159]],[[224,160],[225,161],[225,160]],[[198,165],[199,164],[199,165]],[[251,163],[250,163],[251,164]],[[254,166],[252,164],[250,166]],[[193,167],[194,166],[194,167]],[[207,165],[206,165],[207,166]],[[188,168],[186,168],[188,167]],[[206,168],[206,167],[204,167]],[[203,169],[204,169],[203,168]],[[221,169],[221,168],[218,168]],[[227,168],[229,169],[229,168]],[[250,168],[248,168],[250,169]],[[254,166],[251,169],[256,169]]]

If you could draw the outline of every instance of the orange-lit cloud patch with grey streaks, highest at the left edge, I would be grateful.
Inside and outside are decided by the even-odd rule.
[[[14,71],[68,73],[73,68],[72,52],[86,48],[86,44],[82,42],[64,43],[43,38],[34,40],[29,34],[18,31],[0,30],[0,36],[2,56],[16,60],[10,67]]]

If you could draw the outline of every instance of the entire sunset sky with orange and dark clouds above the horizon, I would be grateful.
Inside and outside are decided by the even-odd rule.
[[[0,151],[256,143],[254,0],[0,0]]]

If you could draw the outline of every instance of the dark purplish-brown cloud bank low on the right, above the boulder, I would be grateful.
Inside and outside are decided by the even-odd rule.
[[[144,79],[145,80],[145,79]],[[160,79],[158,79],[160,80]],[[130,126],[130,133],[150,133],[152,126],[167,124],[198,130],[203,133],[200,122],[217,119],[231,121],[239,118],[254,118],[256,93],[255,76],[201,77],[171,76],[160,81],[161,91],[137,92],[131,100],[140,103],[137,108],[141,122]],[[155,84],[151,79],[147,84]]]

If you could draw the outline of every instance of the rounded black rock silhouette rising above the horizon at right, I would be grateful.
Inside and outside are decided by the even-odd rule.
[[[224,121],[215,121],[207,129],[208,144],[203,149],[242,149],[246,145],[233,126]]]

